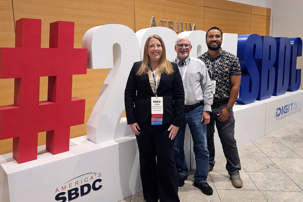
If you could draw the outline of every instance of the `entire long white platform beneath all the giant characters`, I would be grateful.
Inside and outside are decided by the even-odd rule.
[[[293,102],[297,102],[300,110],[277,120],[277,108]],[[235,104],[237,146],[303,117],[302,103],[303,91],[298,90],[251,104]],[[188,168],[194,168],[195,156],[188,128],[184,145]],[[216,157],[223,154],[217,133],[215,150]],[[44,145],[38,147],[35,161],[18,164],[9,153],[0,155],[0,165],[1,202],[61,202],[65,198],[68,201],[68,197],[75,202],[115,202],[142,190],[134,135],[99,144],[88,141],[86,136],[77,137],[70,140],[68,152],[53,155],[45,150]],[[55,200],[56,195],[60,200]]]

